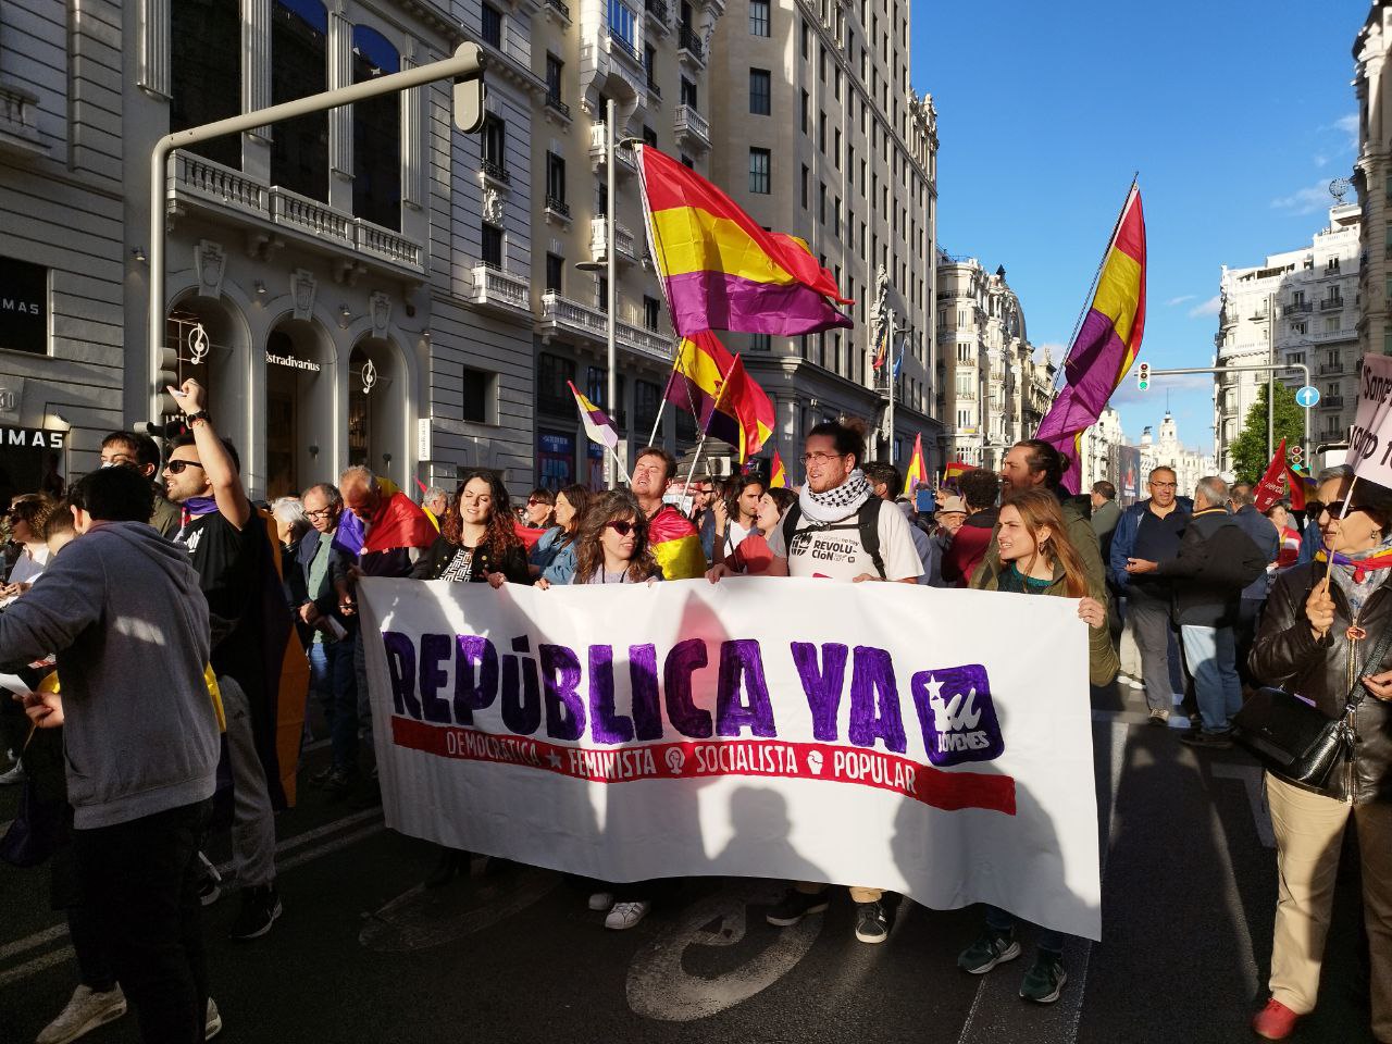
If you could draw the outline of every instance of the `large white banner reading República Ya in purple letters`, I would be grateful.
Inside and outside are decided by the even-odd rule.
[[[395,830],[601,881],[830,881],[1100,937],[1073,600],[363,580],[362,607]]]

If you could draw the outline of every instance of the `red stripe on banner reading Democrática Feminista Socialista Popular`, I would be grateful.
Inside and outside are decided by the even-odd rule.
[[[590,782],[761,775],[825,780],[895,791],[945,812],[986,809],[1015,814],[1015,780],[948,773],[898,754],[834,743],[777,739],[713,739],[707,743],[642,743],[611,750],[560,746],[530,736],[494,735],[393,715],[391,742],[436,757],[539,768]]]

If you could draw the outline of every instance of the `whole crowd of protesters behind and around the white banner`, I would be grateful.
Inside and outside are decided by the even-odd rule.
[[[269,709],[292,663],[306,678],[295,693],[306,700],[301,742],[317,732],[330,748],[329,764],[301,785],[330,800],[373,799],[361,579],[547,590],[738,575],[1076,600],[1093,685],[1119,678],[1144,689],[1157,725],[1186,711],[1179,738],[1196,748],[1232,745],[1233,714],[1253,686],[1302,686],[1335,717],[1357,674],[1374,699],[1347,773],[1320,792],[1267,780],[1281,878],[1271,999],[1253,1027],[1279,1040],[1314,1008],[1339,837],[1352,818],[1374,1030],[1392,1041],[1392,672],[1363,663],[1359,646],[1392,619],[1381,593],[1392,561],[1388,491],[1360,483],[1350,493],[1349,475],[1329,472],[1302,535],[1286,505],[1260,514],[1251,487],[1204,477],[1179,490],[1173,470],[1157,468],[1148,498],[1122,509],[1107,482],[1069,496],[1063,458],[1026,440],[999,475],[969,470],[951,489],[909,496],[894,465],[864,459],[862,427],[827,422],[806,436],[798,490],[770,489],[757,475],[683,476],[665,450],[649,447],[619,490],[572,484],[514,501],[496,472],[472,470],[454,489],[422,487],[416,504],[352,466],[337,483],[258,505],[203,390],[188,381],[180,402],[187,432],[167,447],[113,433],[100,470],[61,500],[15,497],[7,515],[0,668],[18,671],[29,690],[0,710],[0,752],[14,761],[0,784],[32,788],[26,807],[50,809],[53,823],[24,845],[7,837],[0,855],[47,862],[79,976],[40,1044],[75,1040],[128,1002],[150,1041],[221,1029],[199,910],[224,883],[202,849],[210,834],[230,832],[241,899],[231,938],[270,933],[283,912],[274,816],[295,766],[281,764]],[[1313,562],[1321,547],[1332,558],[1322,568]],[[426,884],[447,887],[468,866],[469,853],[441,849]],[[638,924],[663,894],[656,881],[579,884],[617,930]],[[831,892],[789,883],[767,920],[796,924],[825,910]],[[884,892],[873,883],[849,892],[856,938],[883,942]],[[987,908],[959,967],[984,974],[1019,956],[1018,927]],[[1037,934],[1023,998],[1061,995],[1063,941]]]

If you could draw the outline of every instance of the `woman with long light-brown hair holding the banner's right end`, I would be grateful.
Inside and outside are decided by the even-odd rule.
[[[1107,629],[1107,592],[1087,578],[1083,557],[1068,537],[1058,497],[1045,489],[1006,494],[997,523],[997,550],[987,554],[972,586],[977,590],[1077,599],[1077,615],[1087,624],[1089,681],[1108,685],[1116,677],[1116,653]],[[1020,955],[1016,917],[987,905],[980,937],[958,955],[958,967],[986,974]],[[1020,997],[1052,1004],[1063,991],[1063,933],[1040,928],[1034,965],[1025,974]]]

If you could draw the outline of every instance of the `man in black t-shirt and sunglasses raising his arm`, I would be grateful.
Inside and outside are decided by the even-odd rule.
[[[212,622],[210,661],[223,696],[232,771],[232,863],[242,889],[230,937],[245,941],[264,935],[281,915],[273,792],[281,802],[284,795],[278,773],[267,771],[262,752],[274,759],[271,685],[278,685],[290,638],[288,606],[277,653],[263,597],[267,575],[274,575],[270,536],[242,487],[237,450],[213,429],[206,393],[196,380],[184,381],[178,402],[191,433],[174,440],[164,482],[170,500],[182,507],[184,523],[174,539],[188,550]],[[274,590],[283,592],[278,578]]]

